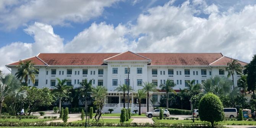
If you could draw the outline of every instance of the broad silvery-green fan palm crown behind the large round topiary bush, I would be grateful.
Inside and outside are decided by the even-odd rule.
[[[219,97],[229,96],[233,99],[240,94],[240,91],[238,87],[232,89],[232,86],[233,82],[227,77],[214,76],[204,80],[200,88],[203,94],[212,92]]]

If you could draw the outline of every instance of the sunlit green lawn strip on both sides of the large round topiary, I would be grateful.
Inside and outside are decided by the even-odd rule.
[[[159,123],[193,123],[192,120],[154,120]],[[209,122],[201,122],[200,120],[195,120],[195,123],[209,123]],[[256,121],[223,121],[218,122],[220,125],[256,125]]]

